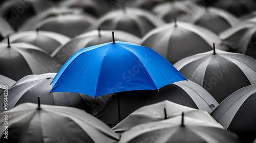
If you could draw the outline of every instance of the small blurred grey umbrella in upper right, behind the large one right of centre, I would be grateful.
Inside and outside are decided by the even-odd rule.
[[[191,20],[194,24],[207,28],[216,34],[233,27],[238,21],[232,14],[222,9],[210,7],[200,8]]]

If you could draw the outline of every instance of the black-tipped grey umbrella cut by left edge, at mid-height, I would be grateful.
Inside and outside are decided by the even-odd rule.
[[[47,52],[29,43],[0,43],[0,74],[13,80],[57,72],[61,68]]]

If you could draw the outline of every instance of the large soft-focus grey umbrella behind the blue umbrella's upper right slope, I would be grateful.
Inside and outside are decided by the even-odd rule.
[[[172,64],[185,57],[212,50],[213,42],[217,42],[221,50],[227,50],[216,34],[185,22],[156,28],[142,39],[142,45],[155,50]]]

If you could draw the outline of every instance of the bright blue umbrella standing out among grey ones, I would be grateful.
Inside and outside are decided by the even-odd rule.
[[[99,97],[130,90],[157,90],[186,80],[152,49],[129,42],[86,47],[74,54],[52,81],[51,92],[78,92]]]

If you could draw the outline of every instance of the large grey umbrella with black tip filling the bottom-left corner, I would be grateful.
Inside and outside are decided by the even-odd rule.
[[[0,113],[4,129],[5,113]],[[8,139],[1,142],[117,142],[119,136],[94,116],[71,107],[24,103],[8,112]]]

